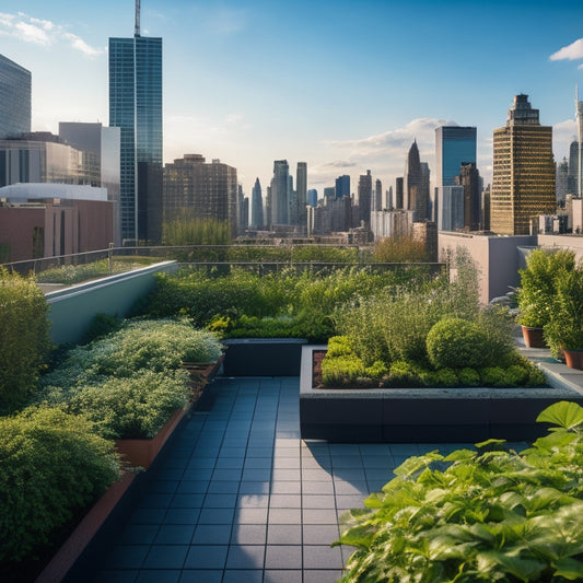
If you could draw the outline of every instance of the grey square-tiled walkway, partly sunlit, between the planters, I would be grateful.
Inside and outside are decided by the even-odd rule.
[[[218,378],[95,582],[337,581],[338,517],[410,455],[458,446],[304,442],[298,377]]]

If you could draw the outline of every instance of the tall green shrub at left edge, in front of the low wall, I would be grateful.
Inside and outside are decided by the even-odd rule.
[[[34,279],[0,268],[0,411],[16,410],[35,392],[49,327],[48,304]]]

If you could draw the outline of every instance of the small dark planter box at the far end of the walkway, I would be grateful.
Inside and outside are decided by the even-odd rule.
[[[230,338],[223,363],[225,376],[298,376],[301,338]]]

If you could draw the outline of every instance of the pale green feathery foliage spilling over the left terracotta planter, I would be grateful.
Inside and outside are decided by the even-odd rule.
[[[185,361],[217,362],[222,345],[187,322],[129,320],[71,350],[37,400],[91,419],[109,439],[153,438],[190,400]]]

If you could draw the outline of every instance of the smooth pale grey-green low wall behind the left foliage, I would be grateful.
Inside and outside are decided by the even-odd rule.
[[[154,275],[174,271],[175,261],[80,283],[45,294],[53,323],[50,339],[57,345],[81,342],[96,314],[125,316],[154,287]]]

